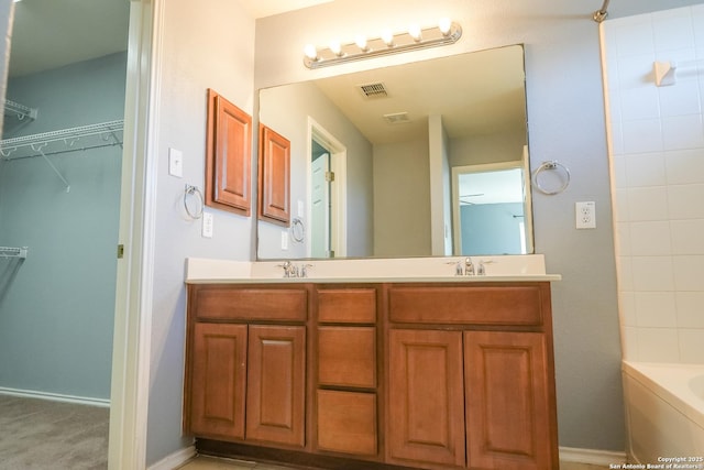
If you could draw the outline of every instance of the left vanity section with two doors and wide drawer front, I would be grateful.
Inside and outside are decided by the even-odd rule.
[[[189,286],[185,427],[305,446],[307,291]]]

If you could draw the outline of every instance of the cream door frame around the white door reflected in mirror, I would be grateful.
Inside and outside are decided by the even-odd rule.
[[[312,183],[311,171],[312,141],[318,142],[330,152],[330,171],[334,173],[334,183],[330,192],[331,214],[331,247],[334,249],[334,256],[346,256],[348,254],[348,149],[322,125],[308,117],[308,138],[306,141],[306,220],[310,223],[312,209]],[[306,233],[306,255],[311,256],[311,233]]]

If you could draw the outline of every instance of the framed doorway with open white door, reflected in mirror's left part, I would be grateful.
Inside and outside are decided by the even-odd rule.
[[[308,118],[308,258],[346,255],[346,147]]]

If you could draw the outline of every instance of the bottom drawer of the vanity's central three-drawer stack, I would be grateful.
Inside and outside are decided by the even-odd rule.
[[[376,455],[376,394],[318,391],[320,450]]]

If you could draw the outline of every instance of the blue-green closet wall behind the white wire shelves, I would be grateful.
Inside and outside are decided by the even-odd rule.
[[[11,78],[7,97],[38,109],[6,117],[3,139],[123,118],[127,55]],[[75,143],[76,147],[81,142]],[[0,244],[29,247],[12,276],[0,261],[0,391],[107,401],[122,149],[0,160]]]

